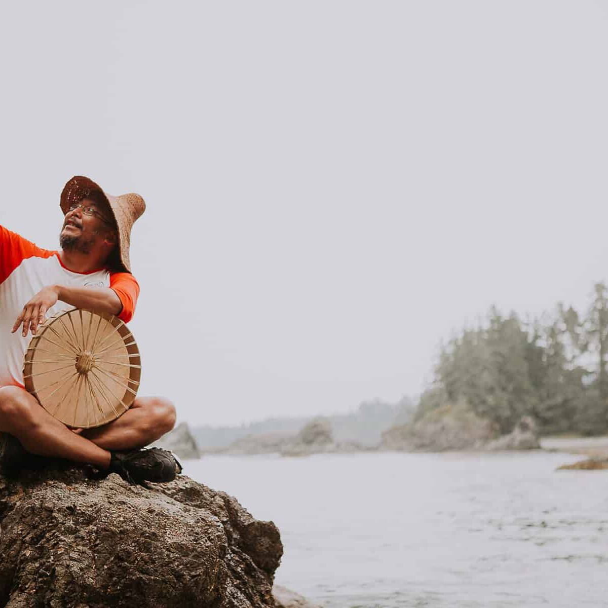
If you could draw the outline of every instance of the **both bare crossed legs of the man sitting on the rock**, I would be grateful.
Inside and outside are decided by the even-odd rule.
[[[120,418],[77,432],[53,418],[26,390],[0,387],[0,431],[32,454],[66,458],[106,469],[109,450],[143,447],[173,429],[175,407],[160,397],[140,397]]]

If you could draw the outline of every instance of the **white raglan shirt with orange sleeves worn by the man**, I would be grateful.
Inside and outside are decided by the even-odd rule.
[[[49,285],[114,289],[122,302],[119,317],[125,323],[133,317],[139,295],[139,285],[128,272],[107,268],[84,274],[71,271],[61,263],[59,252],[41,249],[0,226],[0,386],[23,386],[23,360],[32,334],[23,337],[22,328],[10,332],[27,302]],[[72,308],[58,301],[47,317]]]

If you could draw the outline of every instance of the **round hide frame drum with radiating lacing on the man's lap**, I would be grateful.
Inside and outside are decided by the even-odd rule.
[[[72,309],[40,325],[23,366],[26,389],[67,426],[116,420],[139,388],[142,364],[133,334],[118,317]]]

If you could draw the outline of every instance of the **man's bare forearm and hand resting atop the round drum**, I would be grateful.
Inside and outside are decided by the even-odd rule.
[[[41,289],[24,307],[13,325],[12,333],[23,325],[22,335],[27,331],[36,333],[38,325],[44,322],[46,311],[57,303],[66,302],[76,308],[86,308],[94,313],[120,314],[122,302],[109,287],[67,287],[65,285],[49,285]]]

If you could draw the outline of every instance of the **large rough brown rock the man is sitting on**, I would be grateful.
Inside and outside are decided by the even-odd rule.
[[[0,606],[274,606],[272,522],[179,477],[150,489],[81,469],[0,478]]]

